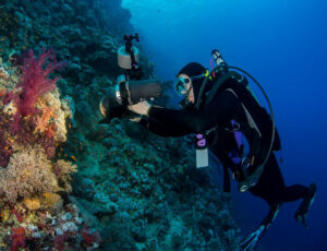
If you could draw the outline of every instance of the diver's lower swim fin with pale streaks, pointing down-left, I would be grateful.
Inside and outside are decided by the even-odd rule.
[[[263,222],[259,224],[259,226],[242,240],[241,249],[243,251],[251,250],[262,239],[262,237],[266,232],[267,228],[275,220],[275,218],[279,212],[279,208],[280,208],[279,203],[270,205],[269,213],[263,219]]]

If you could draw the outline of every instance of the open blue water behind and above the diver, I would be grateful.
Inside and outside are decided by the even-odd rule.
[[[262,240],[263,250],[327,250],[327,3],[324,0],[123,0],[141,44],[162,80],[187,62],[209,67],[217,48],[251,72],[269,95],[282,140],[287,184],[317,182],[308,230],[287,203]],[[267,213],[261,199],[233,192],[244,232]]]

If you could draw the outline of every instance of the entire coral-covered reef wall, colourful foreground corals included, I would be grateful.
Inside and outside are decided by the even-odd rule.
[[[120,4],[0,1],[0,250],[239,249],[192,139],[98,123],[134,32]],[[145,77],[153,65],[141,52]]]

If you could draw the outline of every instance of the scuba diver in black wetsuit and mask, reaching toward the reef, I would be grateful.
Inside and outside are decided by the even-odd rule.
[[[294,217],[306,227],[305,219],[316,194],[316,184],[286,187],[274,154],[281,148],[275,123],[250,91],[245,75],[230,71],[225,62],[221,65],[215,72],[213,70],[209,77],[208,70],[196,62],[180,70],[175,88],[184,96],[181,109],[152,106],[147,101],[130,105],[128,109],[142,116],[134,121],[158,135],[195,133],[197,151],[205,153],[209,148],[221,162],[226,192],[230,191],[231,171],[241,192],[250,191],[268,203],[267,216],[241,242],[242,250],[246,251],[263,237],[284,202],[303,200]],[[240,134],[249,144],[246,155]],[[204,158],[197,160],[202,166],[207,166],[205,156],[198,155]]]

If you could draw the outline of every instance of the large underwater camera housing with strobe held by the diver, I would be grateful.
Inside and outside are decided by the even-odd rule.
[[[121,118],[128,113],[128,106],[135,105],[147,98],[161,95],[159,80],[143,80],[143,72],[138,65],[138,49],[132,41],[140,41],[138,34],[125,35],[125,45],[118,49],[118,65],[125,73],[118,76],[116,86],[110,87],[101,99],[99,109],[105,117],[99,123],[110,123],[113,118]]]

